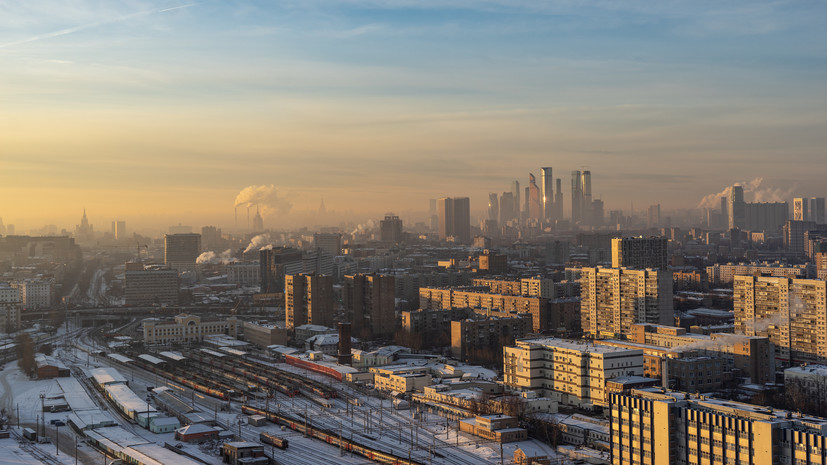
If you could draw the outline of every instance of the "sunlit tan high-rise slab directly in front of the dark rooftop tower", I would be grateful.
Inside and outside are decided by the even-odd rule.
[[[673,323],[672,274],[627,268],[583,268],[583,331],[594,337],[629,334],[635,323]]]

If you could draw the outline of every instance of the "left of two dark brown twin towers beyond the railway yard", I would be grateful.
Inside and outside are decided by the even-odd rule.
[[[287,329],[305,324],[333,327],[333,278],[317,274],[289,274],[284,278]]]

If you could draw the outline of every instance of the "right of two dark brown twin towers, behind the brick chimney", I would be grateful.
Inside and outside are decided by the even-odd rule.
[[[396,331],[396,281],[393,276],[345,276],[342,300],[353,334],[361,338],[391,337]]]

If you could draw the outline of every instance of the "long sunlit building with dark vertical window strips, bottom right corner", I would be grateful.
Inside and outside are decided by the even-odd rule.
[[[657,388],[609,399],[613,465],[825,463],[824,418]]]

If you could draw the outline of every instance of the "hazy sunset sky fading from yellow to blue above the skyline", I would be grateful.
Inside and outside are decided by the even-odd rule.
[[[0,218],[231,228],[251,186],[276,228],[322,200],[354,221],[443,196],[481,211],[541,166],[566,199],[591,170],[607,211],[756,179],[824,196],[825,18],[810,1],[0,0]]]

